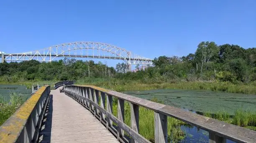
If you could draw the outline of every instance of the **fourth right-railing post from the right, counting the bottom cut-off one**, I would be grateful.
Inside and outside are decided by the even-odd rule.
[[[118,98],[118,119],[124,123],[124,100]],[[118,141],[124,136],[124,131],[118,126]]]

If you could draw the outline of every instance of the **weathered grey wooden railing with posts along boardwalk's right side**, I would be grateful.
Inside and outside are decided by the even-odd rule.
[[[100,93],[99,93],[100,92]],[[155,121],[155,143],[167,143],[167,116],[177,118],[185,123],[201,128],[209,132],[209,142],[224,143],[226,139],[235,142],[255,143],[256,131],[247,128],[235,126],[213,118],[198,115],[189,111],[184,111],[172,106],[155,103],[138,97],[103,89],[97,86],[87,85],[70,85],[64,86],[64,93],[88,110],[90,110],[101,123],[103,123],[109,131],[111,131],[118,141],[125,142],[124,132],[131,137],[131,142],[150,143],[138,133],[138,109],[139,106],[154,111]],[[100,96],[100,106],[99,104]],[[118,118],[113,116],[113,96],[118,98]],[[105,99],[107,105],[105,107]],[[124,123],[124,101],[131,104],[131,127]],[[107,108],[105,110],[105,108]],[[107,119],[104,119],[104,116]],[[112,122],[118,125],[118,131],[113,131]]]

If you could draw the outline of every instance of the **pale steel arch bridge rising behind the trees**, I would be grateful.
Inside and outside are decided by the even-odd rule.
[[[152,60],[140,57],[132,52],[110,44],[100,42],[72,42],[51,46],[48,48],[18,54],[3,54],[3,61],[28,61],[35,59],[41,62],[51,62],[56,57],[121,59],[126,64],[151,65]]]

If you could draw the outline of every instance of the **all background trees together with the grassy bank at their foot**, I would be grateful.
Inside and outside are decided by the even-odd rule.
[[[115,69],[101,62],[67,58],[48,63],[35,60],[0,63],[0,82],[75,79],[119,92],[169,88],[255,93],[255,57],[256,48],[200,42],[194,54],[160,56],[153,60],[153,67],[137,72],[127,72],[128,65],[125,63],[118,63]]]

